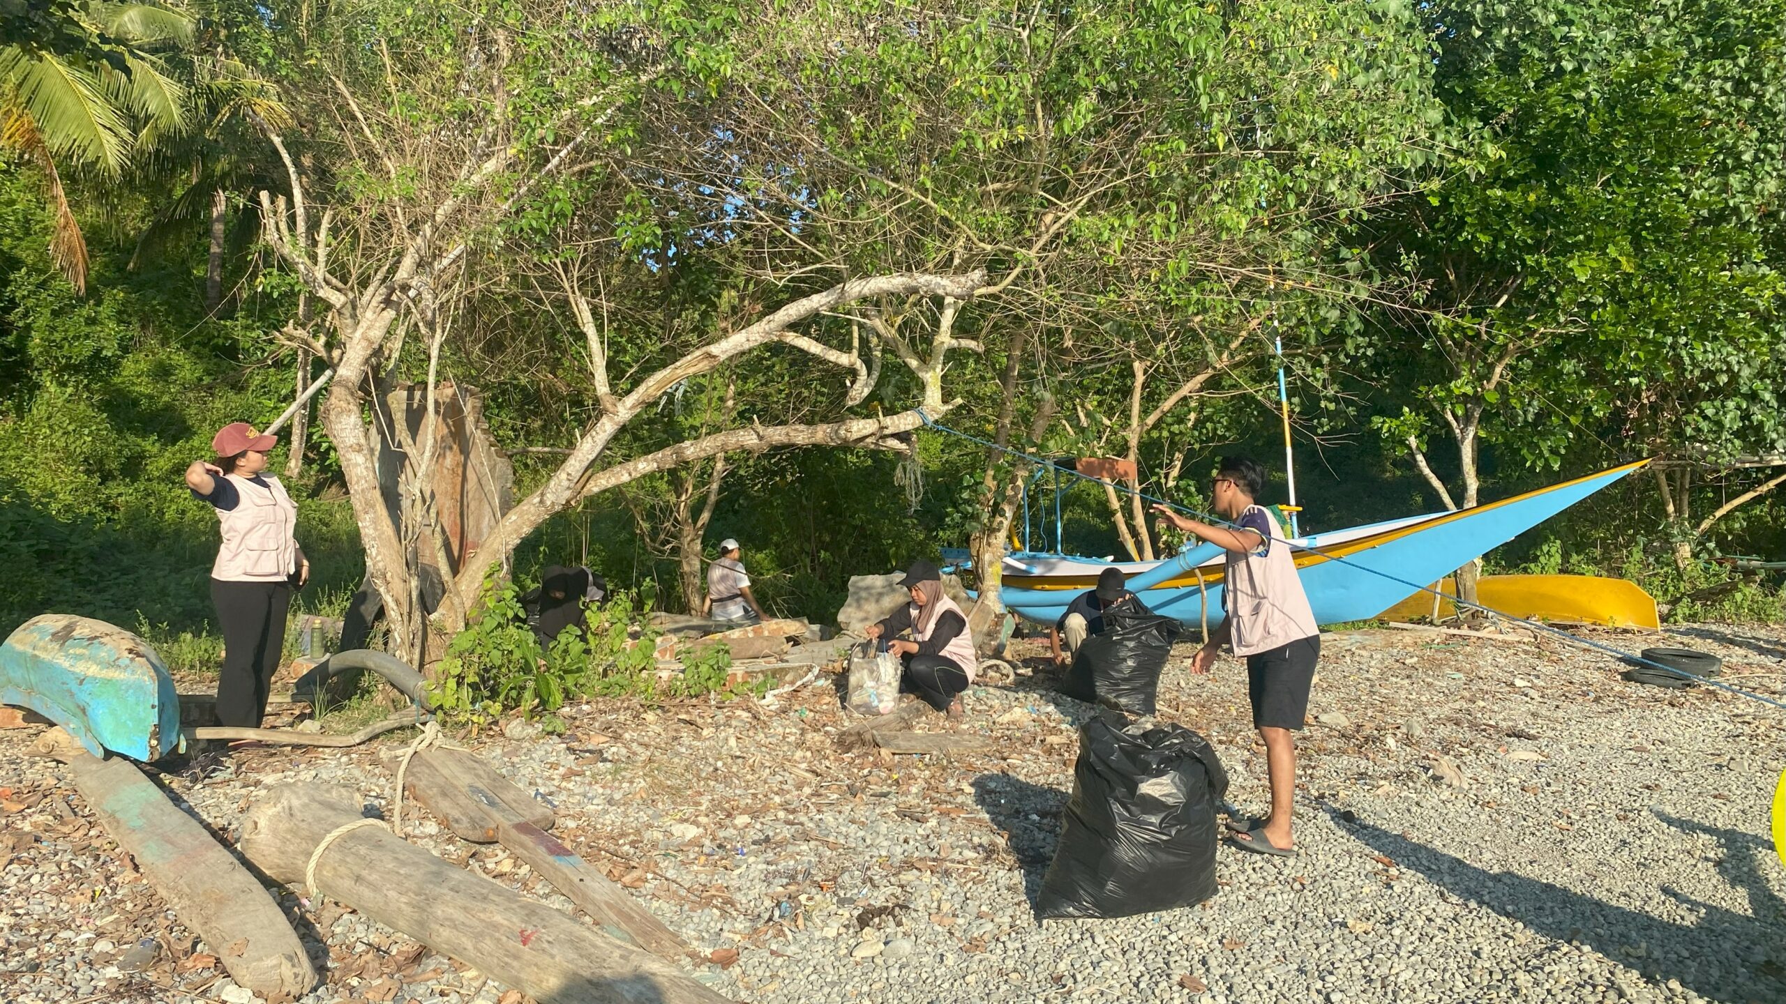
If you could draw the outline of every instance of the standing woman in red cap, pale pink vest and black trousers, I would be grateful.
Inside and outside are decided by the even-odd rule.
[[[261,727],[266,715],[286,645],[291,588],[311,577],[311,563],[293,538],[298,507],[277,477],[263,473],[275,441],[234,422],[211,439],[214,464],[193,461],[186,468],[186,486],[211,502],[223,534],[211,565],[211,602],[223,629],[218,720],[250,729]]]

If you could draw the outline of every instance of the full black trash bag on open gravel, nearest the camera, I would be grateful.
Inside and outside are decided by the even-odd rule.
[[[1073,799],[1036,916],[1134,916],[1216,895],[1216,807],[1227,772],[1182,725],[1139,736],[1093,718],[1079,731]]]

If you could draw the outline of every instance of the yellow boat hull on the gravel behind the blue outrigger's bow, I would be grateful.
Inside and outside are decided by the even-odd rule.
[[[1452,579],[1436,582],[1447,597],[1457,595]],[[1382,611],[1384,620],[1413,620],[1434,615],[1434,595],[1415,593]],[[1656,631],[1656,597],[1631,579],[1600,575],[1484,575],[1477,581],[1477,600],[1495,611],[1525,620],[1568,623],[1604,623],[1607,627],[1647,627]],[[1438,616],[1452,616],[1457,606],[1438,600]]]

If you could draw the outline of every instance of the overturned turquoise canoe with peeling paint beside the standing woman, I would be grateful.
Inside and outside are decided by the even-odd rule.
[[[161,657],[104,620],[46,613],[21,623],[0,643],[0,704],[43,715],[96,757],[154,761],[186,749]]]

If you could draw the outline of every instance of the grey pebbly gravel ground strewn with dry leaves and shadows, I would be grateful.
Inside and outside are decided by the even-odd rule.
[[[1786,631],[1673,634],[1656,643],[1786,690]],[[1257,809],[1243,670],[1191,677],[1188,657],[1181,647],[1168,668],[1161,718],[1209,736],[1229,797]],[[1300,741],[1300,856],[1223,849],[1214,900],[1127,920],[1038,925],[1031,911],[1091,713],[1047,690],[1045,666],[973,690],[961,724],[922,725],[989,734],[986,754],[838,752],[848,720],[823,682],[772,707],[589,704],[564,736],[470,745],[557,807],[572,849],[729,963],[688,970],[734,1000],[1786,1000],[1786,870],[1766,838],[1782,713],[1616,668],[1525,636],[1325,634],[1311,707],[1323,720]],[[0,1000],[254,1000],[57,784],[61,768],[23,756],[32,736],[0,732]],[[282,782],[348,782],[388,804],[405,743],[159,777],[234,840]],[[411,836],[568,909],[500,849],[425,815]],[[520,999],[338,904],[282,902],[329,965],[305,1004]]]

